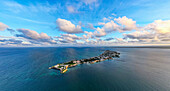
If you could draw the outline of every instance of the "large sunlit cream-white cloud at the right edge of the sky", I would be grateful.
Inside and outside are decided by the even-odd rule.
[[[124,37],[147,43],[170,41],[170,20],[155,20],[144,26],[142,30],[124,34]]]

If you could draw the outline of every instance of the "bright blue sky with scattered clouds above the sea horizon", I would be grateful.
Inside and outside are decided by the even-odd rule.
[[[170,45],[170,0],[0,0],[0,46]]]

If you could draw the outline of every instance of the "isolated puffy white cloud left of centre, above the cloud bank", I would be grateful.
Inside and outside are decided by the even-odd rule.
[[[68,20],[58,18],[56,22],[60,31],[66,33],[83,33],[80,25],[75,26]]]

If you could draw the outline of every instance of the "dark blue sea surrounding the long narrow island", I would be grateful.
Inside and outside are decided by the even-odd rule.
[[[70,68],[58,63],[120,52],[120,58]],[[0,91],[170,91],[169,48],[0,48]]]

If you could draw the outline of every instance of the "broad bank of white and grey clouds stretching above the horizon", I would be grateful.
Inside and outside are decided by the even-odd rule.
[[[155,20],[144,26],[126,16],[110,19],[107,22],[75,25],[71,21],[58,18],[57,27],[62,33],[59,36],[49,36],[30,29],[10,29],[0,23],[0,30],[14,32],[14,38],[0,38],[1,45],[97,45],[107,46],[116,44],[168,44],[170,43],[170,20]],[[80,21],[81,22],[81,21]],[[80,23],[79,22],[79,23]],[[83,31],[83,29],[90,29]],[[119,33],[122,37],[109,36]]]

